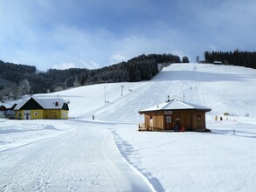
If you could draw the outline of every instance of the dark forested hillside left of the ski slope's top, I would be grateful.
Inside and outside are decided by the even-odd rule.
[[[47,72],[38,72],[35,66],[0,60],[0,99],[52,93],[75,86],[149,80],[157,74],[158,64],[166,63],[181,63],[181,59],[172,54],[149,54],[100,69],[49,69]]]

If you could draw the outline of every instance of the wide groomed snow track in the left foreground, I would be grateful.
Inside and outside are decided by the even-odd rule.
[[[106,126],[73,131],[0,153],[0,191],[151,191],[123,161]]]

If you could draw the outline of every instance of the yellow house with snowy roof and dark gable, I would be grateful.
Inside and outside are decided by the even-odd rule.
[[[24,99],[14,108],[17,120],[67,120],[68,103],[61,98]]]

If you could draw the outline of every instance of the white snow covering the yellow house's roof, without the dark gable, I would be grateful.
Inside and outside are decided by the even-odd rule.
[[[19,110],[26,102],[28,102],[30,99],[34,99],[38,102],[40,106],[42,106],[44,109],[61,109],[64,103],[67,103],[62,98],[35,98],[31,97],[29,99],[23,99],[20,101],[17,106],[14,108],[14,110]]]

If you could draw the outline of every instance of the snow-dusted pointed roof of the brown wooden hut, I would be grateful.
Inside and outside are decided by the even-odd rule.
[[[139,113],[152,112],[152,111],[171,111],[171,110],[201,110],[210,112],[211,108],[205,106],[198,106],[195,104],[183,102],[181,100],[170,99],[165,103],[157,106],[152,106],[147,109],[140,110]]]

